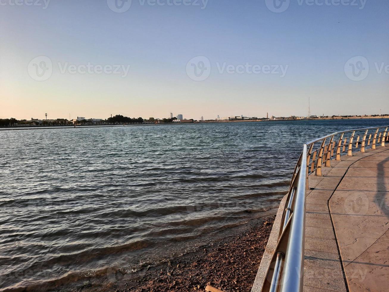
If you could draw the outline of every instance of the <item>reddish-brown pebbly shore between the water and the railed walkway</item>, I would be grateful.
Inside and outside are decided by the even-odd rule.
[[[72,291],[250,291],[274,216],[258,219],[250,229],[222,242],[202,242],[196,250],[137,274],[117,273],[106,281],[86,281]],[[61,289],[61,291],[63,291]]]

